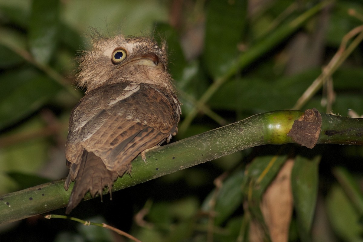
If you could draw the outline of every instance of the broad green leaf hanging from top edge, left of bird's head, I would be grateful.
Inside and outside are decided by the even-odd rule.
[[[40,63],[48,63],[58,44],[58,0],[34,0],[29,25],[30,52]]]

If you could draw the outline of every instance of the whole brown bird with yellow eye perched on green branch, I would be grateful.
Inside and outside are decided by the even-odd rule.
[[[145,150],[169,143],[181,115],[165,42],[97,32],[77,60],[76,82],[86,91],[69,118],[64,188],[74,186],[66,214],[87,192],[102,200],[136,156],[145,161]]]

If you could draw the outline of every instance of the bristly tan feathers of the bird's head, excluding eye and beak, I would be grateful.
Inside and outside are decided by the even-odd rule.
[[[158,75],[167,76],[167,79],[171,81],[170,74],[167,72],[168,58],[165,42],[160,45],[154,38],[125,36],[122,34],[109,38],[101,34],[97,29],[91,29],[88,36],[91,40],[90,45],[77,57],[79,67],[76,81],[79,87],[87,88],[87,91],[90,91],[107,83],[127,82],[130,74],[135,76],[135,73],[138,72],[140,82],[146,79],[146,82],[165,86],[166,83],[158,83],[160,79],[164,79],[158,77]],[[161,72],[143,66],[139,66],[140,70],[137,70],[132,65],[119,68],[118,65],[111,61],[111,55],[116,48],[125,49],[127,58],[150,53],[155,54],[165,70]]]

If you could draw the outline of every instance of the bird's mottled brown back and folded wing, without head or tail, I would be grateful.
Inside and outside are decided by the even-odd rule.
[[[180,107],[168,95],[173,94],[143,83],[118,83],[91,91],[73,110],[67,160],[79,164],[86,149],[101,157],[107,169],[122,175],[127,171],[123,165],[140,152],[176,134]]]

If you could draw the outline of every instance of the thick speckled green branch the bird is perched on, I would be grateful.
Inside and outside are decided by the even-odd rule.
[[[306,139],[296,138],[301,136]],[[132,163],[132,177],[125,175],[119,178],[112,190],[133,186],[242,149],[286,143],[300,143],[307,147],[317,143],[362,145],[363,119],[320,114],[315,109],[254,115],[153,149],[147,152],[146,163],[136,157]],[[1,196],[0,224],[65,207],[72,189],[64,190],[64,181],[61,179]],[[87,199],[90,199],[89,194],[85,197]]]

